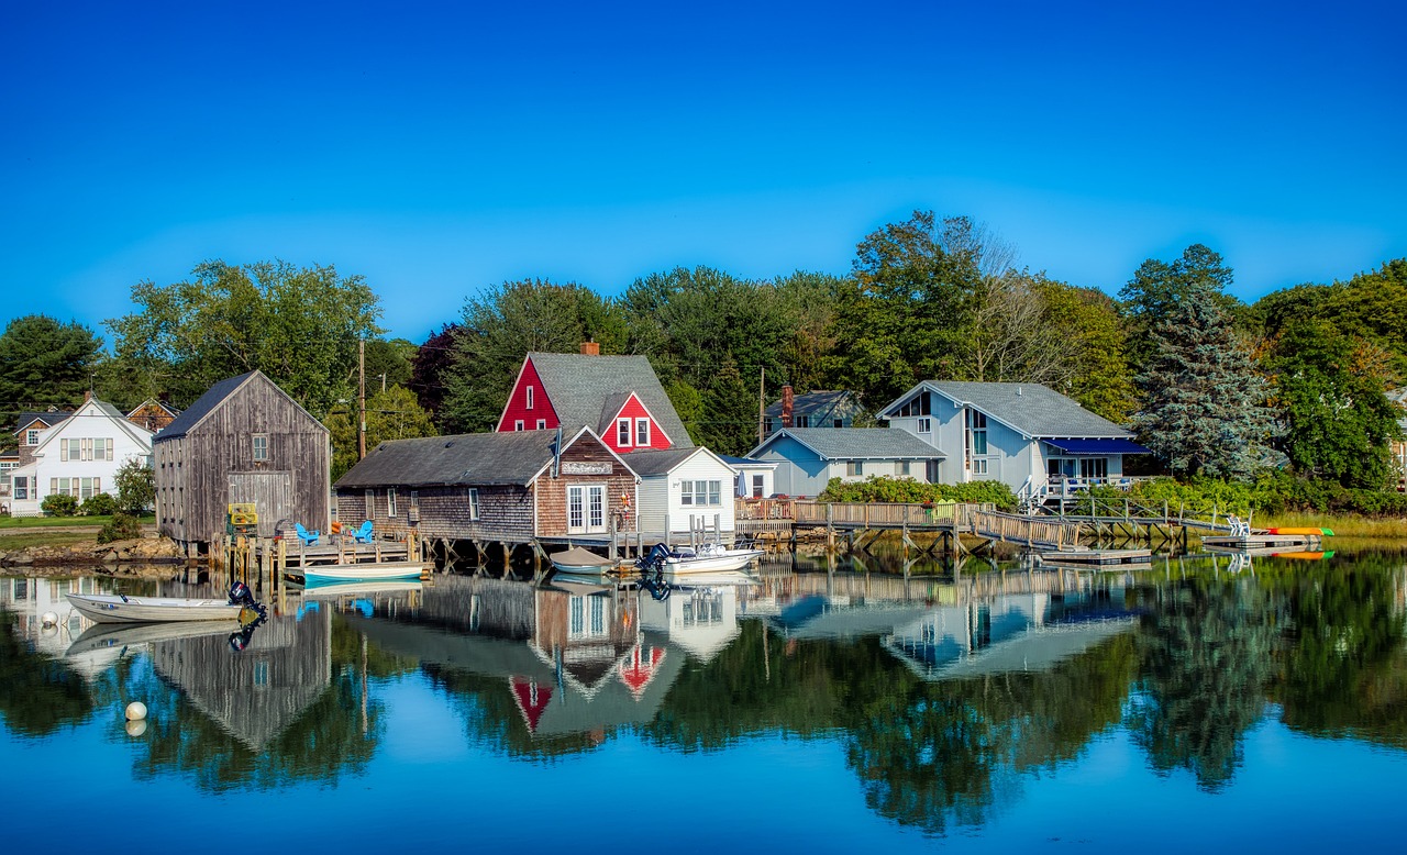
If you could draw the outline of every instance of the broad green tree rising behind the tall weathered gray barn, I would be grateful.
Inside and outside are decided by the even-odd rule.
[[[107,325],[142,394],[186,406],[214,382],[259,368],[314,415],[349,398],[357,345],[380,335],[360,276],[286,262],[207,262],[189,281],[132,287],[139,311]]]

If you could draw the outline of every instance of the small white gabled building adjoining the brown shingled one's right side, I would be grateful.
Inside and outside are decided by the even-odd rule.
[[[687,543],[691,530],[732,540],[737,470],[702,446],[635,451],[625,460],[640,477],[639,530],[649,541]]]

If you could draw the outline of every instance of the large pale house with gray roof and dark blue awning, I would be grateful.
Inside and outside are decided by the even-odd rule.
[[[1038,382],[926,380],[879,411],[947,451],[938,481],[1002,481],[1019,496],[1117,482],[1124,454],[1147,454],[1133,433]]]

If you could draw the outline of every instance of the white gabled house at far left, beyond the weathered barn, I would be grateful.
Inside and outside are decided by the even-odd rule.
[[[69,418],[38,437],[32,463],[13,471],[18,489],[13,499],[14,516],[38,516],[45,496],[68,494],[82,505],[101,492],[117,491],[117,470],[128,460],[149,463],[152,432],[129,422],[111,404],[89,398]]]

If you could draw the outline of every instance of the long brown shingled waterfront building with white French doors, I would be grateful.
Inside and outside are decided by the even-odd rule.
[[[598,543],[633,526],[637,475],[590,428],[466,433],[386,442],[336,482],[338,520],[415,529],[432,544],[483,553]]]

